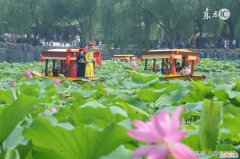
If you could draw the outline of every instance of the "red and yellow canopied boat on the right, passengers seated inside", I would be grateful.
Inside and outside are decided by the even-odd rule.
[[[200,58],[197,52],[191,50],[148,50],[143,52],[141,58],[145,61],[144,70],[161,72],[167,80],[203,80],[206,78],[205,75],[194,72],[194,66],[200,62]],[[185,66],[189,68],[190,72],[188,74],[181,72],[181,69]]]

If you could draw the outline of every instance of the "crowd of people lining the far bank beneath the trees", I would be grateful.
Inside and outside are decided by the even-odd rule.
[[[65,35],[66,34],[66,35]],[[67,37],[67,38],[66,38]],[[31,45],[43,45],[43,46],[54,46],[54,43],[59,43],[61,47],[71,46],[73,48],[83,47],[86,45],[84,40],[81,39],[79,34],[70,35],[69,33],[54,33],[51,38],[47,39],[45,37],[41,37],[39,34],[33,33],[25,33],[22,35],[17,35],[15,33],[4,33],[1,35],[0,41],[9,42],[9,43],[28,43]],[[93,40],[91,40],[93,41]],[[99,47],[103,46],[101,40],[96,41]],[[116,44],[114,44],[116,45]],[[120,45],[120,44],[119,44]],[[150,48],[155,49],[164,49],[169,48],[170,42],[166,39],[158,39],[154,41],[150,41]],[[211,48],[225,48],[225,49],[235,49],[238,48],[238,41],[236,39],[213,39],[206,37],[195,37],[190,38],[189,40],[181,40],[175,39],[172,42],[173,48],[203,48],[203,49],[211,49]],[[109,48],[111,48],[109,46]],[[115,47],[114,47],[115,48]]]

